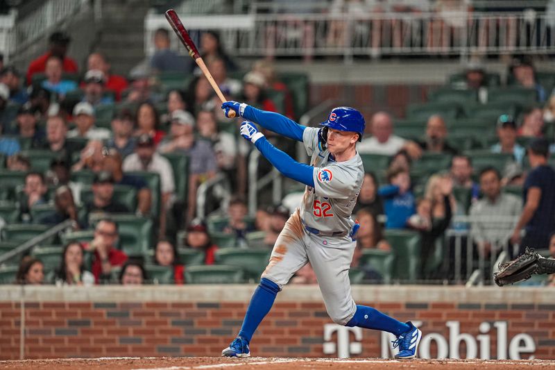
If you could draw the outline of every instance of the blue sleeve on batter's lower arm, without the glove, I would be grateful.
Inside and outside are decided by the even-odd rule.
[[[284,176],[314,187],[314,167],[297,162],[287,153],[280,151],[280,149],[270,144],[266,137],[260,137],[255,142],[255,146],[270,161],[273,167],[278,169]]]

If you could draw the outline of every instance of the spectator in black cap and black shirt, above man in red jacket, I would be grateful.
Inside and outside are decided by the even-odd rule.
[[[85,203],[87,217],[94,213],[129,213],[126,205],[114,199],[114,178],[108,171],[100,171],[92,183],[92,201]],[[83,220],[87,224],[87,220]]]

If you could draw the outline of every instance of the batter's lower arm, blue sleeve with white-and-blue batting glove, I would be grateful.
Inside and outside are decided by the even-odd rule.
[[[239,131],[241,136],[255,144],[256,148],[266,157],[268,161],[280,171],[283,176],[287,176],[305,185],[314,187],[314,167],[299,163],[291,158],[287,153],[280,151],[260,133],[256,126],[249,121],[241,124]]]

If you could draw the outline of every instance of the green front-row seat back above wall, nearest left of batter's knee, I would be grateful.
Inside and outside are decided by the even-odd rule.
[[[186,284],[241,284],[245,283],[243,270],[222,264],[185,268]]]

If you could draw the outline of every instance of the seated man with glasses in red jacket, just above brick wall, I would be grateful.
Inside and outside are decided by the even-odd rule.
[[[110,282],[112,267],[121,266],[128,259],[126,253],[116,248],[118,238],[117,224],[111,219],[101,219],[94,229],[94,239],[85,246],[94,252],[91,270],[96,284]]]

